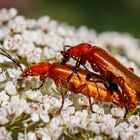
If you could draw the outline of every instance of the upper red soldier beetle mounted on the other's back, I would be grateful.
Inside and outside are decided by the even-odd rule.
[[[140,78],[133,73],[131,68],[126,68],[111,54],[98,46],[81,43],[66,47],[69,48],[64,48],[61,51],[63,55],[62,64],[68,62],[71,57],[77,61],[68,80],[78,70],[80,64],[84,65],[88,61],[93,71],[99,72],[102,78],[109,83],[117,84],[121,88],[122,97],[130,111],[136,108],[140,100]]]

